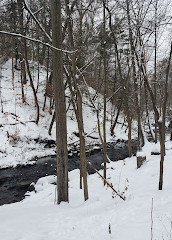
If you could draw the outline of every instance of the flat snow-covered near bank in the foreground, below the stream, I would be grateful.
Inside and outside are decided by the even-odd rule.
[[[35,192],[19,203],[0,207],[0,239],[151,239],[172,237],[172,143],[167,141],[164,187],[158,191],[159,156],[151,156],[153,143],[143,151],[147,160],[136,169],[136,157],[108,164],[108,180],[126,200],[104,187],[97,174],[88,177],[89,200],[79,189],[79,170],[69,173],[69,203],[55,205],[55,176],[38,180]],[[101,171],[100,171],[101,172]],[[109,226],[111,234],[109,233]]]

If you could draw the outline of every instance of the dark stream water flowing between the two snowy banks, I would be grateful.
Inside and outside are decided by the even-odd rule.
[[[126,141],[117,141],[108,144],[107,154],[112,161],[118,161],[128,157]],[[136,153],[136,141],[132,142],[132,153]],[[87,153],[87,160],[100,170],[103,163],[103,152],[101,148],[91,150]],[[69,171],[79,168],[78,153],[68,157]],[[88,173],[94,173],[88,166]],[[16,168],[0,169],[0,205],[21,201],[27,191],[32,191],[30,185],[44,176],[56,174],[56,158],[49,156],[40,158],[34,165],[18,166]]]

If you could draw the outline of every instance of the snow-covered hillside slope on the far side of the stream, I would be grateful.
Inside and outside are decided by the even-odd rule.
[[[21,99],[21,83],[20,73],[15,71],[14,84],[12,82],[11,60],[9,60],[1,70],[0,78],[0,167],[16,166],[17,164],[33,163],[35,158],[55,154],[55,148],[44,148],[44,144],[40,141],[46,139],[55,140],[55,124],[52,129],[52,135],[48,135],[48,128],[52,119],[49,114],[49,98],[47,98],[45,111],[42,111],[45,93],[46,72],[42,68],[40,73],[40,84],[38,89],[38,101],[40,106],[40,121],[36,125],[33,121],[36,120],[36,107],[32,89],[28,83],[24,86],[26,103],[22,103]],[[36,87],[37,70],[36,66],[32,64],[32,75]],[[13,89],[14,86],[14,89]],[[93,94],[93,89],[90,89]],[[68,90],[66,95],[69,96]],[[67,98],[68,101],[69,98]],[[99,104],[102,103],[102,98],[97,99]],[[93,144],[94,142],[100,143],[96,114],[89,107],[89,102],[84,98],[83,114],[84,114],[84,127],[86,137],[86,144]],[[68,108],[68,102],[67,102]],[[110,106],[109,106],[110,112]],[[67,129],[68,129],[68,143],[73,145],[79,143],[79,138],[74,134],[78,132],[75,115],[70,106],[67,113]],[[101,114],[100,114],[101,117]],[[108,115],[110,119],[110,114]],[[121,120],[121,122],[123,119]],[[110,121],[107,123],[107,141],[114,141],[115,139],[127,139],[125,127],[117,125],[115,137],[112,139],[110,136]],[[9,137],[8,137],[9,135]],[[92,137],[97,139],[93,140]],[[16,143],[14,143],[14,139]],[[40,140],[37,142],[37,140]]]

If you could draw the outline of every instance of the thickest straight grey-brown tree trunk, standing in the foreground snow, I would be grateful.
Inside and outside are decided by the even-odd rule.
[[[51,0],[52,44],[62,48],[61,1]],[[57,203],[68,202],[68,155],[63,54],[53,51],[53,87],[56,112]]]

